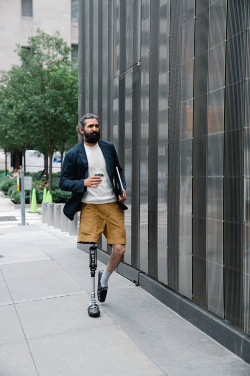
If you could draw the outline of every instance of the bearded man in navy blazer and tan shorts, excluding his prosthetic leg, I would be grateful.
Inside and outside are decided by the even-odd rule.
[[[73,220],[74,214],[81,211],[77,241],[97,243],[103,233],[107,243],[112,246],[105,270],[98,273],[97,297],[104,302],[108,278],[125,252],[123,210],[127,207],[122,202],[126,200],[126,184],[114,145],[99,139],[98,117],[94,114],[83,115],[77,130],[82,134],[83,142],[67,151],[59,187],[72,192],[72,197],[64,206],[64,214]],[[113,184],[116,166],[124,189],[122,197]]]

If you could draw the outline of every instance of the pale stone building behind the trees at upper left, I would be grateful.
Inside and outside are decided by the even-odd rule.
[[[78,58],[78,0],[1,0],[0,4],[0,71],[19,64],[15,45],[27,46],[27,39],[39,28],[47,34],[59,31],[71,57]],[[0,153],[0,169],[5,168]],[[20,159],[21,160],[21,159]],[[8,155],[8,167],[10,167]]]

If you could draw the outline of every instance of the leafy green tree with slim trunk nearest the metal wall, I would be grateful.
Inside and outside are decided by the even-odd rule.
[[[52,156],[62,145],[76,143],[77,67],[69,60],[70,47],[59,33],[37,30],[27,48],[17,46],[25,79],[23,97],[34,148],[49,156],[48,187],[52,187]],[[74,142],[73,138],[75,139]]]

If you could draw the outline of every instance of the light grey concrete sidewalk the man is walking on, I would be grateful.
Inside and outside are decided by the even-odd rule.
[[[0,228],[0,376],[250,375],[250,365],[115,272],[100,317],[90,318],[88,255],[40,217]]]

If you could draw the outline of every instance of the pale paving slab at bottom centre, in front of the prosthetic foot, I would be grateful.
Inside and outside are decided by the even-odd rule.
[[[115,325],[28,339],[40,376],[162,376],[160,370]]]

